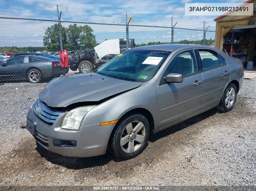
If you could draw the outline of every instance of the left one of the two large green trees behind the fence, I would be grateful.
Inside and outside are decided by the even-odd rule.
[[[67,44],[67,35],[65,27],[61,26],[62,29],[62,45],[65,48]],[[54,24],[48,27],[45,31],[45,36],[43,38],[44,46],[47,46],[49,51],[60,51],[60,35],[59,35],[59,25]]]

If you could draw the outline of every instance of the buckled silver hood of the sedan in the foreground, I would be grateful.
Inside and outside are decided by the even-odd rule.
[[[99,101],[141,84],[96,73],[78,74],[53,79],[41,91],[39,98],[50,107],[66,107],[77,102]]]

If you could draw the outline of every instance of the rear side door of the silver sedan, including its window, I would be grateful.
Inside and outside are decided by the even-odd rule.
[[[201,111],[219,102],[230,81],[230,68],[224,58],[212,49],[198,49],[197,53],[204,76]]]

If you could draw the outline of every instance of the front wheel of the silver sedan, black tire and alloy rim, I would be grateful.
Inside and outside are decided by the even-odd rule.
[[[146,148],[149,132],[144,115],[136,113],[121,119],[110,142],[111,152],[122,160],[136,157]]]

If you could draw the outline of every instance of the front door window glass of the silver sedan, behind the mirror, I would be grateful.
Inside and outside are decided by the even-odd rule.
[[[189,50],[178,54],[168,66],[166,75],[170,73],[182,74],[183,76],[197,72],[194,51]]]

